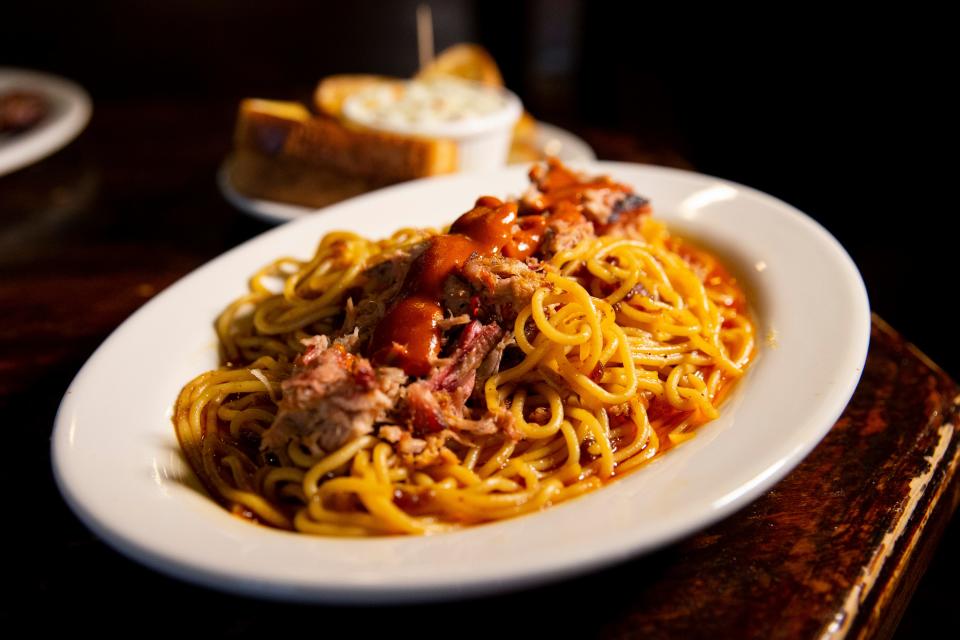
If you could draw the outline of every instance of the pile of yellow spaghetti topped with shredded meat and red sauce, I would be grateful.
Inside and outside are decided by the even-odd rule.
[[[324,236],[216,323],[176,402],[211,494],[322,535],[421,534],[591,491],[718,415],[755,352],[733,277],[558,162],[445,233]]]

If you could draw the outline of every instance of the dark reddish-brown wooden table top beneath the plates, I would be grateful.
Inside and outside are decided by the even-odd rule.
[[[104,629],[123,610],[159,632],[218,635],[331,623],[373,633],[426,621],[470,636],[893,633],[960,499],[958,388],[879,318],[853,400],[787,478],[705,531],[575,580],[444,605],[303,607],[183,584],[99,542],[54,486],[54,414],[85,359],[130,313],[267,228],[217,191],[233,113],[228,103],[98,104],[76,142],[0,177],[0,409],[24,445],[11,477],[27,488],[5,535],[30,560],[8,577],[18,588],[0,619],[43,613]],[[670,149],[579,133],[601,158],[685,166]],[[198,610],[184,626],[181,614]],[[522,615],[508,623],[514,612]]]

